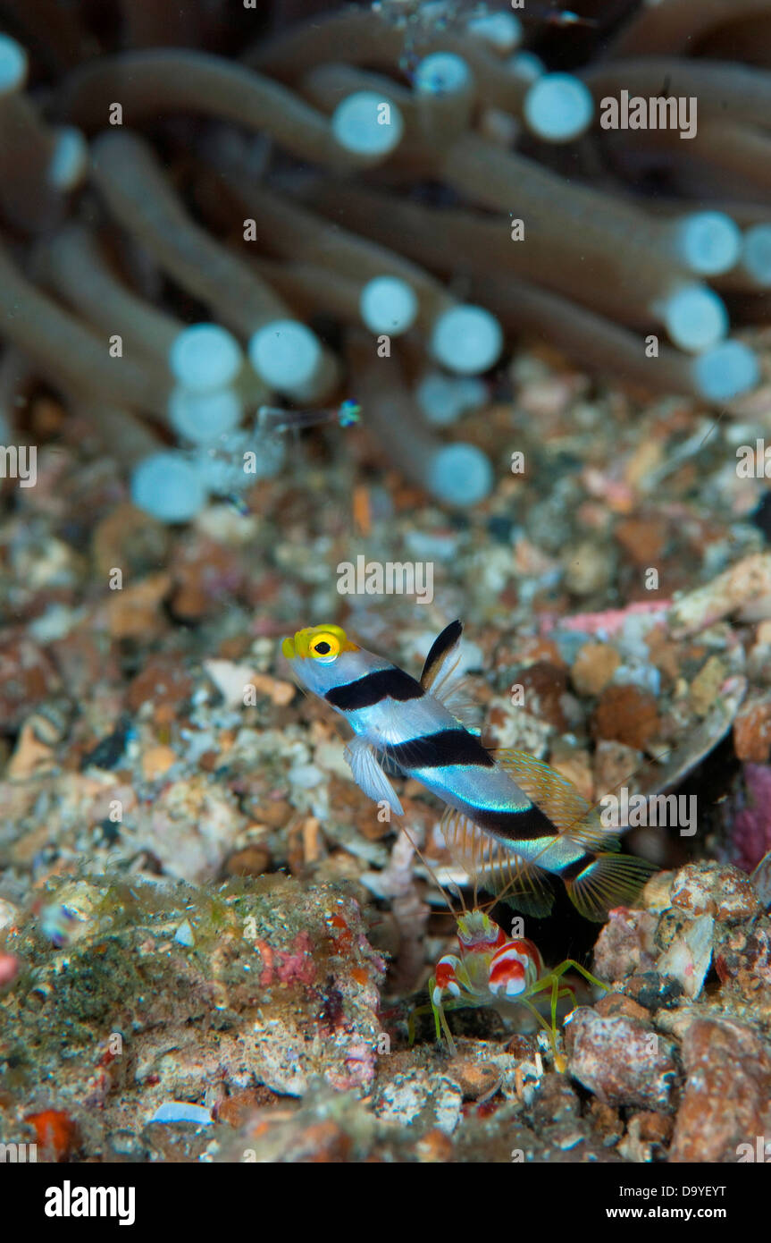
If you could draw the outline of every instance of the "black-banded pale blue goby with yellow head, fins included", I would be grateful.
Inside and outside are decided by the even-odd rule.
[[[603,892],[595,895],[600,830],[587,828],[588,804],[569,782],[533,757],[521,752],[500,757],[490,753],[453,713],[461,633],[458,622],[442,631],[420,681],[350,643],[339,626],[299,630],[284,640],[282,650],[307,690],[348,721],[355,735],[348,758],[355,779],[371,798],[389,802],[401,814],[401,804],[380,766],[381,759],[387,759],[447,804],[443,828],[448,846],[488,888],[505,885],[520,910],[546,914],[552,895],[543,884],[543,874],[557,875],[584,914],[602,917],[606,897],[615,905],[615,899],[626,896],[629,868],[623,868],[623,856],[613,856],[612,864],[602,869]],[[521,784],[516,773],[521,774]],[[546,814],[549,807],[574,823],[580,820],[581,829],[560,829]],[[605,842],[616,845],[606,837]],[[639,860],[631,863],[644,866]],[[607,885],[607,874],[613,869],[618,892],[610,892]],[[632,866],[631,871],[637,888],[639,868]],[[591,901],[584,897],[584,891],[590,890]],[[598,896],[601,902],[595,900]]]

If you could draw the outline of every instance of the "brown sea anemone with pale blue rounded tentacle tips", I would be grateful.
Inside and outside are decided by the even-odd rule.
[[[2,415],[43,379],[161,520],[242,490],[250,454],[281,469],[258,406],[350,395],[400,470],[476,503],[490,462],[431,424],[521,333],[708,406],[760,379],[735,333],[771,288],[761,0],[611,26],[591,0],[4,7]],[[606,128],[624,92],[673,124]]]

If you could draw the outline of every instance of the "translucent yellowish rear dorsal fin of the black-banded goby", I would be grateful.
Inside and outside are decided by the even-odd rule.
[[[548,815],[559,833],[587,850],[617,850],[618,840],[603,830],[592,807],[576,787],[543,759],[526,751],[504,747],[493,752],[495,763],[508,772],[512,781]],[[588,819],[587,819],[588,818]]]

